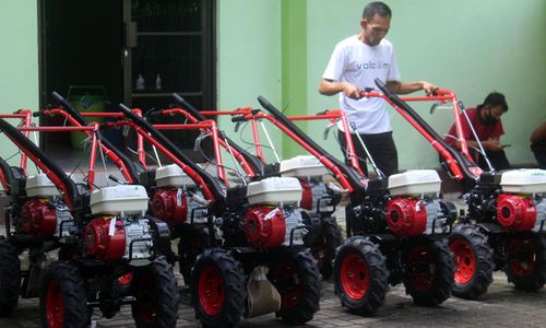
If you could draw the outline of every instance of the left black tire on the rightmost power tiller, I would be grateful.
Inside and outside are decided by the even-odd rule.
[[[455,261],[453,295],[475,300],[487,292],[495,270],[494,250],[488,237],[473,225],[460,224],[449,237]],[[463,277],[463,272],[471,278]]]

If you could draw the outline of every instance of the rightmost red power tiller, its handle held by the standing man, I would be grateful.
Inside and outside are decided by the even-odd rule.
[[[383,93],[368,92],[388,101],[439,152],[442,166],[470,190],[463,196],[466,215],[451,237],[456,272],[453,293],[476,298],[487,292],[494,270],[503,270],[515,288],[541,289],[546,282],[546,171],[512,169],[484,173],[474,162],[462,128],[464,107],[451,91],[427,97],[397,97],[381,81]],[[448,144],[406,102],[451,102],[460,150]],[[472,129],[472,124],[468,120]],[[477,136],[476,140],[478,140]],[[480,151],[484,153],[483,148]],[[485,155],[486,156],[486,155]],[[490,165],[489,165],[490,166]]]

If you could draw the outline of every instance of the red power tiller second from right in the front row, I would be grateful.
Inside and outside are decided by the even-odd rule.
[[[447,300],[454,265],[446,239],[454,214],[449,203],[437,198],[436,172],[408,172],[391,176],[389,181],[367,179],[358,166],[342,163],[268,101],[258,99],[273,117],[254,116],[269,119],[316,156],[349,194],[349,238],[339,248],[334,261],[335,291],[342,305],[360,314],[373,313],[383,303],[388,284],[401,281],[416,304],[437,305]],[[342,112],[327,112],[318,117],[342,119],[345,131],[349,131]],[[351,162],[357,165],[352,157],[351,138],[347,141]],[[419,180],[427,184],[419,186]]]

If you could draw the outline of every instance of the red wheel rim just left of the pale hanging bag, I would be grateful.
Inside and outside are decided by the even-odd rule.
[[[206,267],[199,276],[199,302],[210,316],[217,315],[224,305],[224,277],[216,267]]]

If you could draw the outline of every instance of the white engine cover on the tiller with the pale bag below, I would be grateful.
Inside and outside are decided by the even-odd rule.
[[[247,187],[249,204],[294,203],[301,201],[304,189],[297,178],[270,177],[250,183]]]

